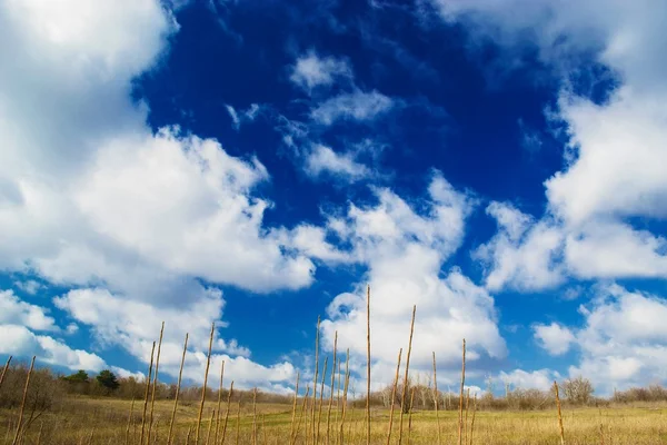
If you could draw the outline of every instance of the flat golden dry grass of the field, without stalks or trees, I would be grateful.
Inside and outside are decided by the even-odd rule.
[[[26,436],[26,444],[139,444],[141,435],[142,403],[136,403],[129,425],[131,403],[110,398],[71,397],[34,421]],[[173,404],[168,400],[156,402],[155,424],[151,444],[166,444],[169,419]],[[213,402],[207,403],[200,429],[200,444],[213,444],[216,424],[207,442]],[[233,405],[229,413],[225,444],[289,444],[292,428],[292,407],[279,404],[258,404],[255,414],[250,402]],[[300,406],[299,406],[300,408]],[[18,413],[0,412],[0,441],[11,444]],[[218,434],[221,443],[223,418]],[[195,443],[195,425],[198,404],[181,404],[177,412],[175,444]],[[297,415],[297,421],[298,421]],[[298,426],[297,444],[312,443],[311,423],[303,416]],[[458,444],[458,413],[440,412],[440,435],[442,444]],[[641,404],[636,406],[597,408],[564,408],[566,444],[667,444],[667,405]],[[338,419],[338,421],[337,421]],[[374,444],[387,443],[389,411],[374,409],[371,434]],[[297,422],[298,423],[298,422]],[[468,424],[471,423],[469,415]],[[317,425],[317,423],[316,423]],[[340,415],[331,414],[330,444],[340,443],[335,429],[339,429]],[[40,435],[41,429],[41,435]],[[327,443],[327,406],[320,422],[320,444]],[[438,428],[434,412],[414,412],[411,424],[408,415],[404,417],[402,443],[437,444]],[[316,426],[317,431],[317,426]],[[344,425],[344,443],[365,444],[365,411],[348,408]],[[187,441],[188,434],[190,441]],[[145,438],[148,431],[145,433]],[[309,437],[307,442],[307,436]],[[558,421],[555,409],[540,412],[478,412],[475,417],[472,437],[467,434],[467,443],[474,444],[558,444]],[[238,437],[238,438],[237,438]],[[395,412],[391,443],[398,443],[399,418]],[[470,441],[471,438],[471,441]],[[128,442],[126,442],[126,439]]]

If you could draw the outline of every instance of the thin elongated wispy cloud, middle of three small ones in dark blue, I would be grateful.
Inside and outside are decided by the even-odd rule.
[[[325,100],[310,111],[310,116],[315,121],[326,126],[337,120],[367,121],[389,111],[394,105],[391,98],[376,90],[370,92],[355,90]]]

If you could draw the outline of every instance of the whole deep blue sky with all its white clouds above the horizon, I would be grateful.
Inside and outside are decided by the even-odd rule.
[[[571,3],[571,4],[569,4]],[[667,382],[658,2],[0,1],[0,355]],[[440,370],[441,369],[441,370]]]

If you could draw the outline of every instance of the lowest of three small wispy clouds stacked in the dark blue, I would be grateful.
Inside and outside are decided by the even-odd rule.
[[[338,154],[321,144],[312,147],[306,158],[306,172],[312,177],[329,174],[355,181],[371,176],[368,167],[355,160],[351,152]]]

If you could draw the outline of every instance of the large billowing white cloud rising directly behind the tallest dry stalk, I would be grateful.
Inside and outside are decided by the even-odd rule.
[[[417,305],[411,368],[429,369],[431,352],[446,368],[459,366],[460,340],[468,342],[470,363],[482,354],[502,357],[494,299],[481,287],[454,268],[440,269],[464,236],[471,199],[456,191],[435,174],[429,196],[415,207],[386,189],[376,190],[375,206],[350,206],[348,214],[332,218],[329,229],[351,246],[351,257],[368,267],[367,281],[338,295],[322,322],[322,343],[328,350],[338,330],[339,348],[350,348],[352,368],[361,370],[366,345],[366,283],[371,287],[372,379],[391,379],[399,347],[407,352],[412,305]],[[442,333],[450,340],[442,342]]]

